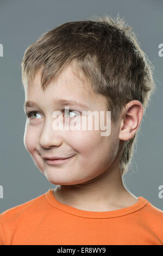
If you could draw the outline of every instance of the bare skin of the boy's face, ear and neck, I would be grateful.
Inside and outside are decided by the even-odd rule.
[[[57,98],[86,103],[90,111],[108,110],[105,97],[95,94],[90,84],[84,83],[73,70],[72,66],[67,66],[55,82],[48,84],[45,92],[41,89],[40,72],[24,88],[26,101],[34,101],[39,106],[26,109],[37,113],[32,115],[33,119],[27,118],[24,145],[41,173],[57,185],[53,192],[60,203],[85,211],[110,211],[131,206],[139,199],[124,186],[118,163],[123,142],[133,137],[139,128],[143,106],[140,101],[130,101],[116,125],[111,123],[111,133],[107,137],[101,136],[100,129],[54,131],[52,114],[64,109],[55,103]],[[76,106],[70,109],[85,110]],[[76,118],[82,118],[82,114]],[[73,157],[51,166],[42,156]]]

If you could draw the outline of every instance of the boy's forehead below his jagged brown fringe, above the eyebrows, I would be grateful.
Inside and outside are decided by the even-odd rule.
[[[41,88],[41,70],[39,70],[34,79],[27,84],[25,89],[26,101],[38,100],[40,97],[46,97],[47,99],[55,100],[76,100],[83,101],[83,103],[89,103],[90,106],[98,103],[106,103],[106,99],[102,94],[97,94],[93,91],[91,83],[83,75],[82,71],[78,70],[72,65],[66,66],[62,70],[61,74],[55,78],[54,82],[50,82],[47,88],[43,91]],[[28,99],[29,98],[29,99]]]

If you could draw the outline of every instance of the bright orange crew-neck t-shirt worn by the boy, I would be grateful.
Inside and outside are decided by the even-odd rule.
[[[119,210],[84,211],[49,189],[0,214],[0,245],[163,245],[163,211],[143,197]]]

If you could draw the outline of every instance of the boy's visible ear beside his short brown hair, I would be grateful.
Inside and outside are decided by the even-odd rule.
[[[121,129],[119,139],[128,141],[131,139],[139,125],[143,116],[143,106],[138,100],[127,103],[122,114]]]

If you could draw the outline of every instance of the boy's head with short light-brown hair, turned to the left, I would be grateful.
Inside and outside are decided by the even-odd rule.
[[[115,164],[121,175],[127,172],[155,83],[151,63],[120,17],[67,22],[43,34],[24,53],[22,82],[26,101],[37,102],[40,109],[32,110],[45,119],[27,120],[24,142],[49,180],[48,168],[53,167],[46,169],[42,156],[74,155],[65,164],[74,161],[83,182],[97,176],[99,168],[103,172]],[[100,131],[53,131],[52,113],[64,109],[57,99],[76,100],[88,107],[70,107],[73,113],[110,111],[110,136],[101,137]],[[83,168],[94,169],[94,176],[82,174]],[[72,184],[77,181],[70,180]]]

